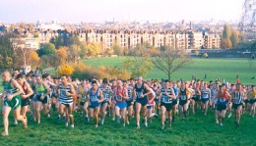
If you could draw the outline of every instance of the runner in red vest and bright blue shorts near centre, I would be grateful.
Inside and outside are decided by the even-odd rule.
[[[123,126],[125,126],[125,122],[127,122],[127,111],[126,111],[126,100],[128,99],[128,93],[125,86],[123,86],[123,83],[121,80],[116,81],[117,86],[114,89],[114,97],[115,97],[115,115],[118,118],[117,123],[121,122],[121,119],[123,119]],[[121,111],[121,114],[120,114]]]

